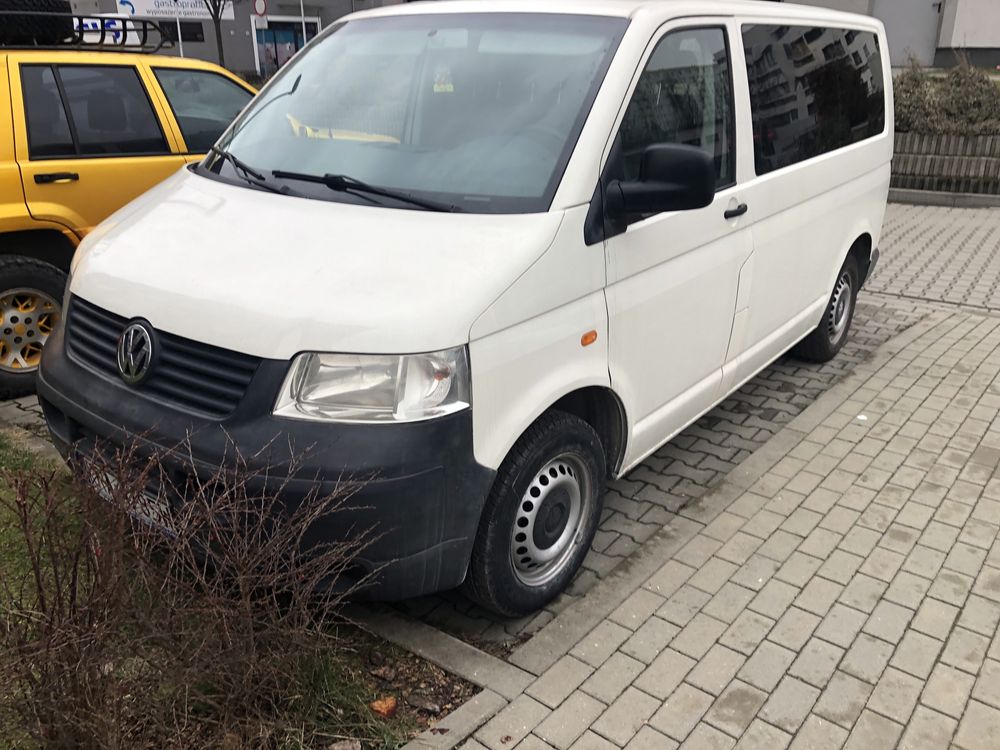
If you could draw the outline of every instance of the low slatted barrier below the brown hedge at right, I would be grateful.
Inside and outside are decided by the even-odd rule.
[[[892,187],[1000,194],[1000,135],[896,133]]]

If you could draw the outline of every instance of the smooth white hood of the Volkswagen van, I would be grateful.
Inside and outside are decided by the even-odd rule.
[[[468,342],[561,216],[357,206],[184,169],[88,235],[72,292],[258,357],[435,351]]]

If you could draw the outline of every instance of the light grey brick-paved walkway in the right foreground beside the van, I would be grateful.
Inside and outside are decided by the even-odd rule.
[[[1000,318],[897,341],[463,747],[1000,747]]]

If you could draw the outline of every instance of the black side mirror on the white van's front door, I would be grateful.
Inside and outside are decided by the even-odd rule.
[[[700,148],[673,143],[647,146],[639,179],[607,188],[612,215],[658,214],[704,208],[715,199],[715,161]]]

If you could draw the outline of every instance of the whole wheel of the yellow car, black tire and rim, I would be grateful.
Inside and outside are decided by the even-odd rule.
[[[53,265],[0,257],[0,399],[34,390],[42,348],[62,318],[65,285]]]

